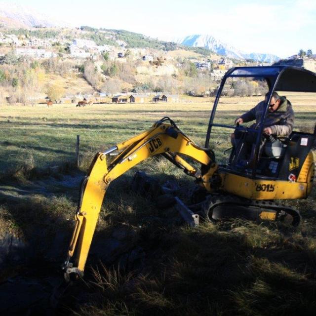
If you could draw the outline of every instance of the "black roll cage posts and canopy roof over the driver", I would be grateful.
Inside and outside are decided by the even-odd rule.
[[[266,118],[271,97],[274,91],[293,91],[293,92],[316,92],[316,74],[305,70],[303,68],[294,66],[264,66],[264,67],[234,67],[227,71],[224,75],[219,89],[216,94],[214,106],[209,118],[208,128],[206,132],[205,148],[209,148],[209,140],[212,132],[212,127],[226,127],[237,130],[244,130],[244,127],[225,125],[225,124],[214,124],[214,116],[218,101],[221,97],[223,87],[228,78],[262,78],[268,83],[269,92],[267,94],[267,100],[265,104],[265,112],[261,118],[259,128],[247,128],[248,131],[257,133],[256,147],[255,147],[255,158],[258,157],[260,139],[263,131],[263,123]],[[307,133],[308,134],[308,133]],[[316,136],[316,125],[314,128],[314,137]],[[257,159],[252,167],[252,176],[255,177],[257,169]]]

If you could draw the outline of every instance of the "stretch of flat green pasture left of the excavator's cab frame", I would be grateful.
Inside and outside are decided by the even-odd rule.
[[[192,109],[192,111],[189,111]],[[198,143],[203,143],[210,105],[44,105],[0,107],[0,165],[5,174],[74,161],[80,135],[83,160],[126,140],[168,115]],[[192,124],[192,125],[190,125]],[[86,158],[88,155],[88,158]]]

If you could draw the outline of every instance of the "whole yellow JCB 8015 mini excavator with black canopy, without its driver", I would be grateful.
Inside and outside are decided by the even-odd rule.
[[[214,122],[224,84],[227,79],[236,78],[254,78],[267,83],[269,92],[266,97],[266,110],[257,129]],[[289,206],[277,204],[274,200],[306,198],[311,193],[315,168],[311,148],[316,128],[313,133],[293,131],[287,139],[287,147],[282,157],[259,157],[263,122],[274,91],[316,92],[316,74],[290,66],[232,68],[219,86],[204,147],[195,144],[172,119],[162,118],[147,131],[103,153],[97,153],[91,163],[89,175],[81,184],[76,225],[68,257],[63,265],[66,280],[70,279],[71,275],[83,275],[103,198],[111,182],[152,156],[162,155],[195,178],[197,185],[205,193],[199,214],[206,220],[243,214],[246,218],[258,220],[277,221],[290,218],[293,225],[298,225],[299,212]],[[252,167],[236,168],[237,148],[233,149],[227,164],[216,163],[209,145],[214,127],[257,134]],[[108,163],[108,156],[114,152],[118,155]],[[185,157],[197,161],[201,167],[193,167]]]

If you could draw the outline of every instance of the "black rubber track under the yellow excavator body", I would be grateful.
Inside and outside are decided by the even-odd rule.
[[[298,226],[301,221],[301,215],[299,211],[295,210],[284,204],[274,203],[271,200],[249,200],[242,197],[232,196],[232,195],[225,195],[225,194],[216,194],[212,196],[206,197],[205,201],[201,203],[201,211],[200,214],[208,221],[214,221],[212,219],[212,212],[216,206],[222,206],[223,204],[229,205],[240,205],[240,206],[251,206],[256,207],[263,210],[272,210],[276,211],[277,220],[282,220],[282,211],[291,215],[293,218],[292,225]]]

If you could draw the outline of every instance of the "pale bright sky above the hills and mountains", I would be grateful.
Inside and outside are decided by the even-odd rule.
[[[73,26],[154,38],[210,34],[245,52],[316,53],[316,0],[15,0]]]

